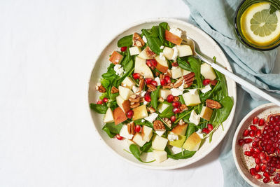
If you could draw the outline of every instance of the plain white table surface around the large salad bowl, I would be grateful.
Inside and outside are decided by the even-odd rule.
[[[0,186],[223,186],[220,146],[181,169],[135,167],[102,144],[87,107],[111,36],[189,14],[180,0],[0,1]]]

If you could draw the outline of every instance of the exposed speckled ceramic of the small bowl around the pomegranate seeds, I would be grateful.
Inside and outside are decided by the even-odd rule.
[[[249,125],[251,125],[253,117],[258,116],[258,118],[264,118],[265,120],[267,120],[267,116],[269,116],[272,113],[280,113],[280,107],[276,106],[273,103],[269,103],[269,104],[263,104],[253,109],[253,111],[248,113],[243,118],[243,120],[241,120],[235,132],[235,137],[233,138],[232,141],[232,154],[233,154],[233,158],[235,159],[235,165],[238,169],[238,172],[243,177],[243,179],[247,183],[251,184],[251,186],[275,186],[275,185],[271,183],[270,184],[263,183],[262,181],[259,181],[253,178],[253,176],[251,176],[249,169],[252,167],[252,162],[254,163],[254,161],[249,160],[244,155],[244,152],[242,151],[242,146],[239,146],[238,140],[242,138],[242,134],[244,130],[248,129]]]

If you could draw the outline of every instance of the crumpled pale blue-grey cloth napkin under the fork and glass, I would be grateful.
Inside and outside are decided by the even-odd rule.
[[[280,74],[271,74],[277,50],[251,50],[235,36],[234,15],[239,0],[183,0],[190,8],[190,22],[207,32],[221,46],[235,74],[258,88],[280,94]],[[256,106],[267,101],[253,92],[237,87],[237,108],[230,132],[225,137],[219,160],[224,172],[224,186],[248,186],[239,175],[232,157],[232,139],[242,118]],[[246,90],[248,91],[248,90]],[[251,97],[250,97],[251,95]]]

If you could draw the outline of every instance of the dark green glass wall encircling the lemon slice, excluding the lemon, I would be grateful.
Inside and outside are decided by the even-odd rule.
[[[280,38],[276,41],[269,43],[266,46],[257,46],[254,43],[249,42],[245,36],[241,32],[240,18],[241,15],[246,11],[246,9],[252,4],[260,3],[260,2],[268,2],[271,3],[276,9],[280,10],[280,1],[279,0],[243,0],[241,4],[239,4],[237,11],[235,12],[235,34],[241,43],[243,43],[248,48],[252,48],[255,50],[272,50],[280,46]]]

